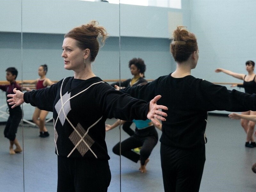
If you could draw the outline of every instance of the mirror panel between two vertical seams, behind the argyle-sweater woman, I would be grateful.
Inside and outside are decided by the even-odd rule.
[[[103,12],[102,10],[110,10]],[[110,37],[92,63],[93,72],[103,80],[119,78],[119,5],[87,1],[22,1],[23,80],[39,78],[38,68],[47,64],[46,77],[59,81],[74,76],[64,69],[62,43],[70,29],[99,21]],[[111,20],[111,23],[109,22]],[[111,74],[111,75],[109,75]],[[115,75],[112,75],[115,74]],[[24,105],[24,118],[31,119],[35,108]],[[49,112],[46,119],[52,117]],[[25,191],[57,190],[57,155],[55,154],[53,123],[46,123],[49,137],[40,138],[39,129],[24,125],[24,183]]]

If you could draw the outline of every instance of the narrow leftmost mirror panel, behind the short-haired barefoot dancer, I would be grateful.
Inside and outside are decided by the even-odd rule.
[[[6,69],[15,67],[18,71],[17,82],[22,78],[22,55],[21,55],[21,3],[20,1],[1,1],[0,19],[0,85],[10,84],[6,81]],[[14,17],[15,15],[15,17]],[[9,108],[6,103],[6,89],[0,91],[0,186],[8,191],[23,190],[23,155],[22,153],[10,154],[9,139],[4,137],[6,121],[9,118]],[[8,90],[7,90],[8,91]],[[18,112],[20,113],[20,112]],[[13,114],[13,112],[12,112]],[[13,116],[13,115],[12,115]],[[15,121],[15,120],[14,120]],[[12,124],[12,128],[16,125]],[[22,146],[22,126],[18,126],[16,139]],[[15,149],[15,145],[13,146]],[[11,181],[13,184],[10,185]]]

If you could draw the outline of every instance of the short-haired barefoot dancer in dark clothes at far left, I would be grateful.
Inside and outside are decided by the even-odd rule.
[[[17,69],[14,67],[9,67],[5,71],[6,71],[6,80],[9,81],[10,84],[0,85],[0,89],[6,92],[6,98],[7,98],[6,100],[8,100],[10,98],[7,95],[13,94],[14,88],[21,91],[21,87],[15,81],[18,75]],[[22,118],[22,110],[20,106],[17,106],[17,108],[11,108],[11,107],[12,106],[8,105],[10,115],[8,117],[8,120],[4,128],[4,137],[10,140],[10,148],[9,148],[10,154],[15,154],[15,153],[20,153],[22,151],[22,148],[20,147],[20,143],[16,138],[18,126]],[[16,146],[15,149],[13,149],[13,145]]]

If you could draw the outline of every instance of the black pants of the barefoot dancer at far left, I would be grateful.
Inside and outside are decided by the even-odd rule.
[[[4,129],[4,137],[13,141],[16,138],[18,126],[22,118],[22,110],[20,106],[17,106],[13,109],[10,109],[9,113],[10,113],[10,116],[6,122],[6,126]]]

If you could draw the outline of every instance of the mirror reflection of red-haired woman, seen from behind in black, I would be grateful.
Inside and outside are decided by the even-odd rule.
[[[185,27],[174,30],[170,50],[177,62],[173,73],[121,91],[146,101],[162,95],[158,103],[168,107],[160,138],[164,191],[198,192],[205,163],[208,111],[256,110],[256,95],[192,76],[199,50],[196,36]]]

